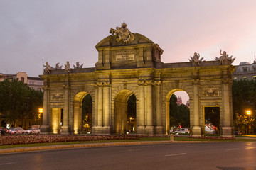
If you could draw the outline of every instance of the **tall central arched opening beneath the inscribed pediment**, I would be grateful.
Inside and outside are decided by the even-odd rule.
[[[136,96],[132,91],[119,91],[114,99],[114,131],[117,134],[137,132]]]

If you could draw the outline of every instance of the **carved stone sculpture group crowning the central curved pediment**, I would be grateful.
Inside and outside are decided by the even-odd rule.
[[[134,35],[129,32],[126,23],[122,23],[121,27],[116,27],[116,30],[110,28],[110,33],[112,36],[114,36],[114,38],[116,38],[115,40],[117,43],[123,41],[124,44],[127,45],[128,42],[132,42],[132,40],[134,40]]]

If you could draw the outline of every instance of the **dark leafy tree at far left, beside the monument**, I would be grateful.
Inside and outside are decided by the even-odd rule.
[[[35,119],[43,106],[43,93],[30,89],[22,81],[8,79],[0,82],[0,113],[6,121]]]

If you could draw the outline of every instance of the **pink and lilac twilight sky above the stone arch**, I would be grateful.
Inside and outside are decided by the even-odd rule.
[[[254,60],[255,0],[1,0],[0,73],[38,77],[43,62],[95,67],[95,45],[123,21],[160,45],[162,62],[193,52],[214,60],[220,49],[234,65]]]

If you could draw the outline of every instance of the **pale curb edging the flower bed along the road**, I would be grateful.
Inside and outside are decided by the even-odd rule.
[[[181,142],[181,141],[179,141],[179,142]],[[95,144],[90,143],[90,144],[73,144],[73,145],[50,145],[50,146],[43,146],[43,147],[14,147],[11,149],[0,149],[0,154],[42,151],[42,150],[51,150],[51,149],[70,149],[70,148],[83,148],[83,147],[110,147],[110,146],[121,146],[121,145],[149,145],[149,144],[167,144],[167,143],[177,143],[177,142],[171,142],[171,141],[108,142],[108,143],[95,143]]]

